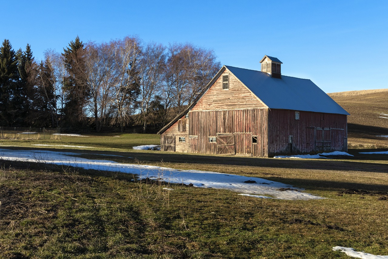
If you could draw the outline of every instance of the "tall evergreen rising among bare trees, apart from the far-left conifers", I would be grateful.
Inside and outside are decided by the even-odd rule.
[[[62,126],[73,129],[82,128],[87,124],[84,112],[90,89],[87,84],[84,44],[77,36],[69,43],[62,53],[68,77],[64,78],[65,106]],[[65,124],[65,125],[64,125]]]

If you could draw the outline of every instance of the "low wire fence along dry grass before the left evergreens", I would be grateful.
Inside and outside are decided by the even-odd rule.
[[[61,128],[0,127],[0,139],[61,139]]]

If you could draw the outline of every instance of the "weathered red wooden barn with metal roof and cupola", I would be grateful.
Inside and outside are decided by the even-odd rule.
[[[163,127],[161,150],[272,157],[347,151],[347,115],[309,79],[223,66],[198,98]]]

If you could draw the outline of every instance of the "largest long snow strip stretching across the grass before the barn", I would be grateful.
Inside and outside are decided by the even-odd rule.
[[[207,172],[199,170],[177,170],[160,166],[131,165],[108,160],[95,160],[75,157],[79,154],[70,152],[54,152],[46,150],[9,150],[0,149],[0,159],[12,161],[29,161],[49,163],[54,165],[74,166],[84,169],[94,169],[111,172],[132,173],[138,179],[151,178],[174,184],[192,184],[195,187],[226,189],[238,193],[253,195],[270,195],[282,200],[318,200],[323,199],[309,193],[302,193],[303,189],[295,188],[289,184],[273,182],[258,177],[241,175],[225,175],[224,173]],[[246,181],[254,184],[245,183]],[[281,188],[293,188],[297,191],[279,191]]]

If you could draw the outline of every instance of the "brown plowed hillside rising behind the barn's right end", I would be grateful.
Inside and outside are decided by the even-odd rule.
[[[348,144],[351,148],[388,147],[388,89],[329,93],[348,116]]]

